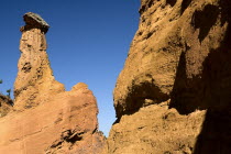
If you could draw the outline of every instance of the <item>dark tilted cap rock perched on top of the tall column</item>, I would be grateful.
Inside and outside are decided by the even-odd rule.
[[[22,32],[30,29],[41,29],[44,33],[48,31],[48,23],[36,13],[28,12],[23,15],[23,19],[25,21],[25,26],[20,29]]]

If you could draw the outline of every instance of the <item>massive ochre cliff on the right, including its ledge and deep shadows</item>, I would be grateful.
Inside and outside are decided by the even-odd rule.
[[[141,0],[106,153],[231,153],[230,13],[229,0]]]

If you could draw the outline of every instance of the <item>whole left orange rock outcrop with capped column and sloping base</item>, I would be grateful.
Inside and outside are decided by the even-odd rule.
[[[65,91],[46,54],[48,24],[34,13],[26,13],[24,21],[15,106],[0,119],[0,153],[100,153],[105,138],[98,132],[96,98],[82,82]]]

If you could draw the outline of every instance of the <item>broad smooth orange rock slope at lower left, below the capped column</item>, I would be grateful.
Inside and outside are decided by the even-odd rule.
[[[87,86],[53,96],[36,108],[0,119],[0,153],[98,153],[105,139],[97,130],[97,113]]]

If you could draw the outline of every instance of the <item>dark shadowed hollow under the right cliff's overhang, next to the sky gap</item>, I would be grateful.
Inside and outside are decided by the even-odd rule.
[[[132,91],[125,99],[125,109],[120,103],[116,107],[118,118],[116,123],[120,121],[120,118],[123,114],[133,114],[138,112],[140,108],[150,106],[145,105],[145,99],[152,100],[153,103],[161,103],[169,99],[169,96],[163,94],[161,89],[153,84],[153,81],[145,81],[140,85],[133,84],[131,89]]]

